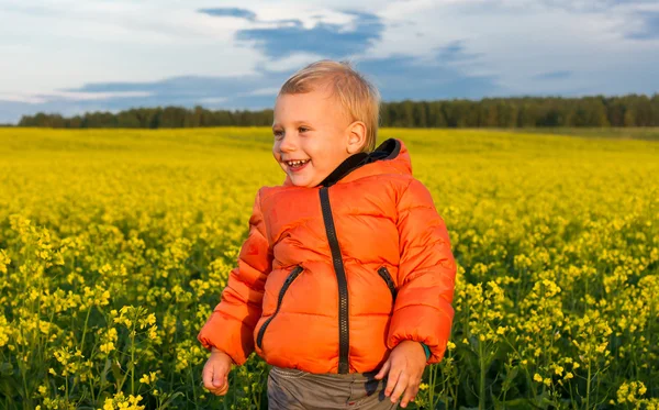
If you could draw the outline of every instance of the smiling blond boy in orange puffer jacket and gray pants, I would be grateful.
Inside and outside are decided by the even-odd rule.
[[[269,409],[404,408],[442,359],[448,232],[403,143],[373,151],[378,119],[377,89],[347,63],[316,62],[282,86],[272,154],[287,176],[259,189],[238,266],[198,335],[211,351],[206,389],[224,395],[232,364],[256,350],[273,366]]]

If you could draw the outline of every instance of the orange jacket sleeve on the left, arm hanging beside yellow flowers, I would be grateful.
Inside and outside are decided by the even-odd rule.
[[[259,190],[237,267],[230,273],[220,303],[197,336],[206,350],[216,347],[236,365],[247,361],[254,351],[253,331],[261,315],[264,287],[271,268],[272,252],[260,210]]]

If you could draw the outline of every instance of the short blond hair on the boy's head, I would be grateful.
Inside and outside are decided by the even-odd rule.
[[[366,124],[366,142],[361,151],[373,151],[380,120],[380,92],[349,62],[322,59],[312,63],[289,77],[277,98],[310,92],[321,86],[328,86],[332,97],[338,99],[350,121]]]

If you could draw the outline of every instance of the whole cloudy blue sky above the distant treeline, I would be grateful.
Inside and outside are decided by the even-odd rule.
[[[659,0],[0,0],[0,123],[271,108],[321,59],[384,101],[659,92]]]

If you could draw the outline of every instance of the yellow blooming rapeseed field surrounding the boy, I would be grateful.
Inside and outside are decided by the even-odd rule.
[[[423,409],[659,409],[659,145],[383,130],[458,261]],[[283,174],[267,129],[0,130],[0,409],[265,409],[196,336]]]

